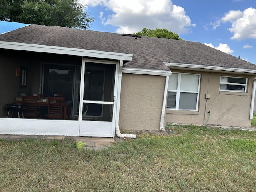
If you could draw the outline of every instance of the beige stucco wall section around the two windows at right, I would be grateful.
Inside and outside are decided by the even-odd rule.
[[[210,111],[207,124],[250,127],[252,81],[255,76],[182,70],[172,70],[172,72],[201,74],[199,108],[198,111],[166,110],[166,122],[202,125],[207,122],[208,111]],[[219,91],[220,76],[248,78],[247,92]],[[206,93],[210,94],[210,99],[207,102],[205,99]]]

